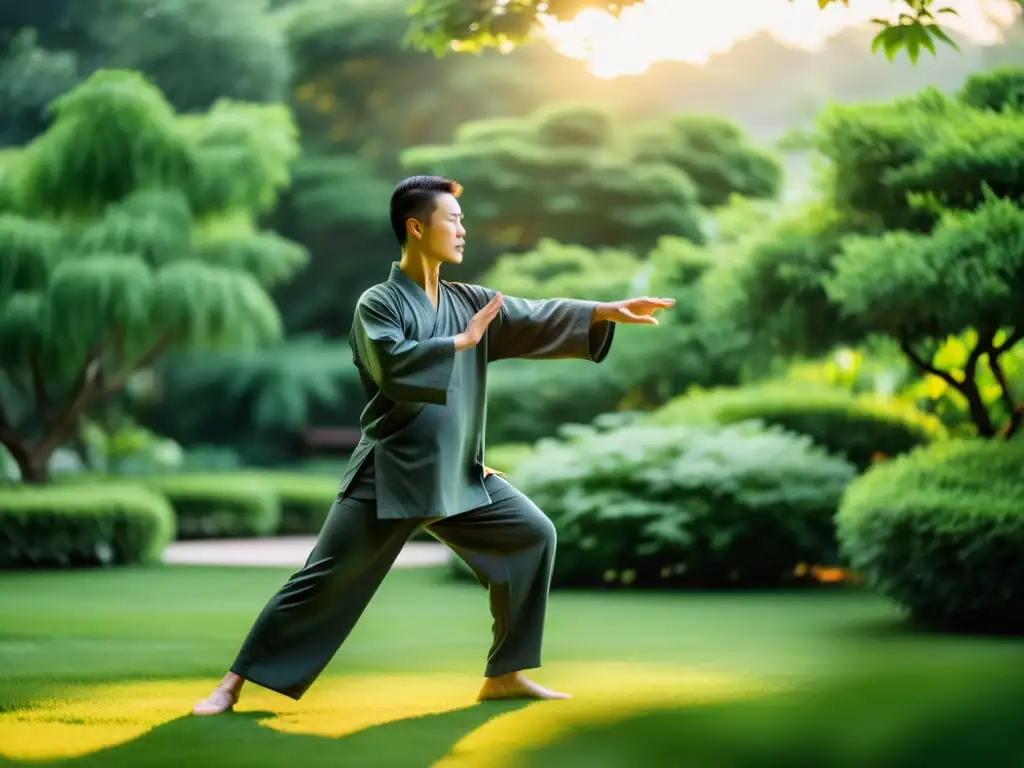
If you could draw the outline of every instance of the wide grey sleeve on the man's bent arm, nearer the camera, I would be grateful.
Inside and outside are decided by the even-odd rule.
[[[398,310],[380,297],[355,307],[352,340],[367,374],[395,402],[444,404],[455,367],[455,338],[406,338]]]

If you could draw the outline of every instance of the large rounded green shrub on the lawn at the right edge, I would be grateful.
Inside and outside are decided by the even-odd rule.
[[[876,465],[837,516],[842,552],[926,625],[1024,631],[1024,441],[957,440]]]

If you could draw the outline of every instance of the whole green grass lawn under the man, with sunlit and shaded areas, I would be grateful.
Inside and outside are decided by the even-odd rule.
[[[473,706],[485,593],[394,571],[302,701],[188,716],[287,574],[0,574],[0,765],[1024,766],[1024,643],[857,591],[555,593],[535,676],[575,697]]]

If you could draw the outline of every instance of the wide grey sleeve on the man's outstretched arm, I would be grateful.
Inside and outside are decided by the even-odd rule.
[[[487,328],[487,357],[574,357],[600,362],[611,348],[615,326],[594,323],[596,307],[596,301],[505,296],[501,311]]]

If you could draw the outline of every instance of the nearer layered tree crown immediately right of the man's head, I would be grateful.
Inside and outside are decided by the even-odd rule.
[[[413,147],[401,162],[409,174],[458,179],[470,237],[492,248],[528,249],[542,237],[641,252],[663,234],[701,242],[692,179],[641,161],[628,139],[607,110],[561,104],[464,124],[451,144]]]

